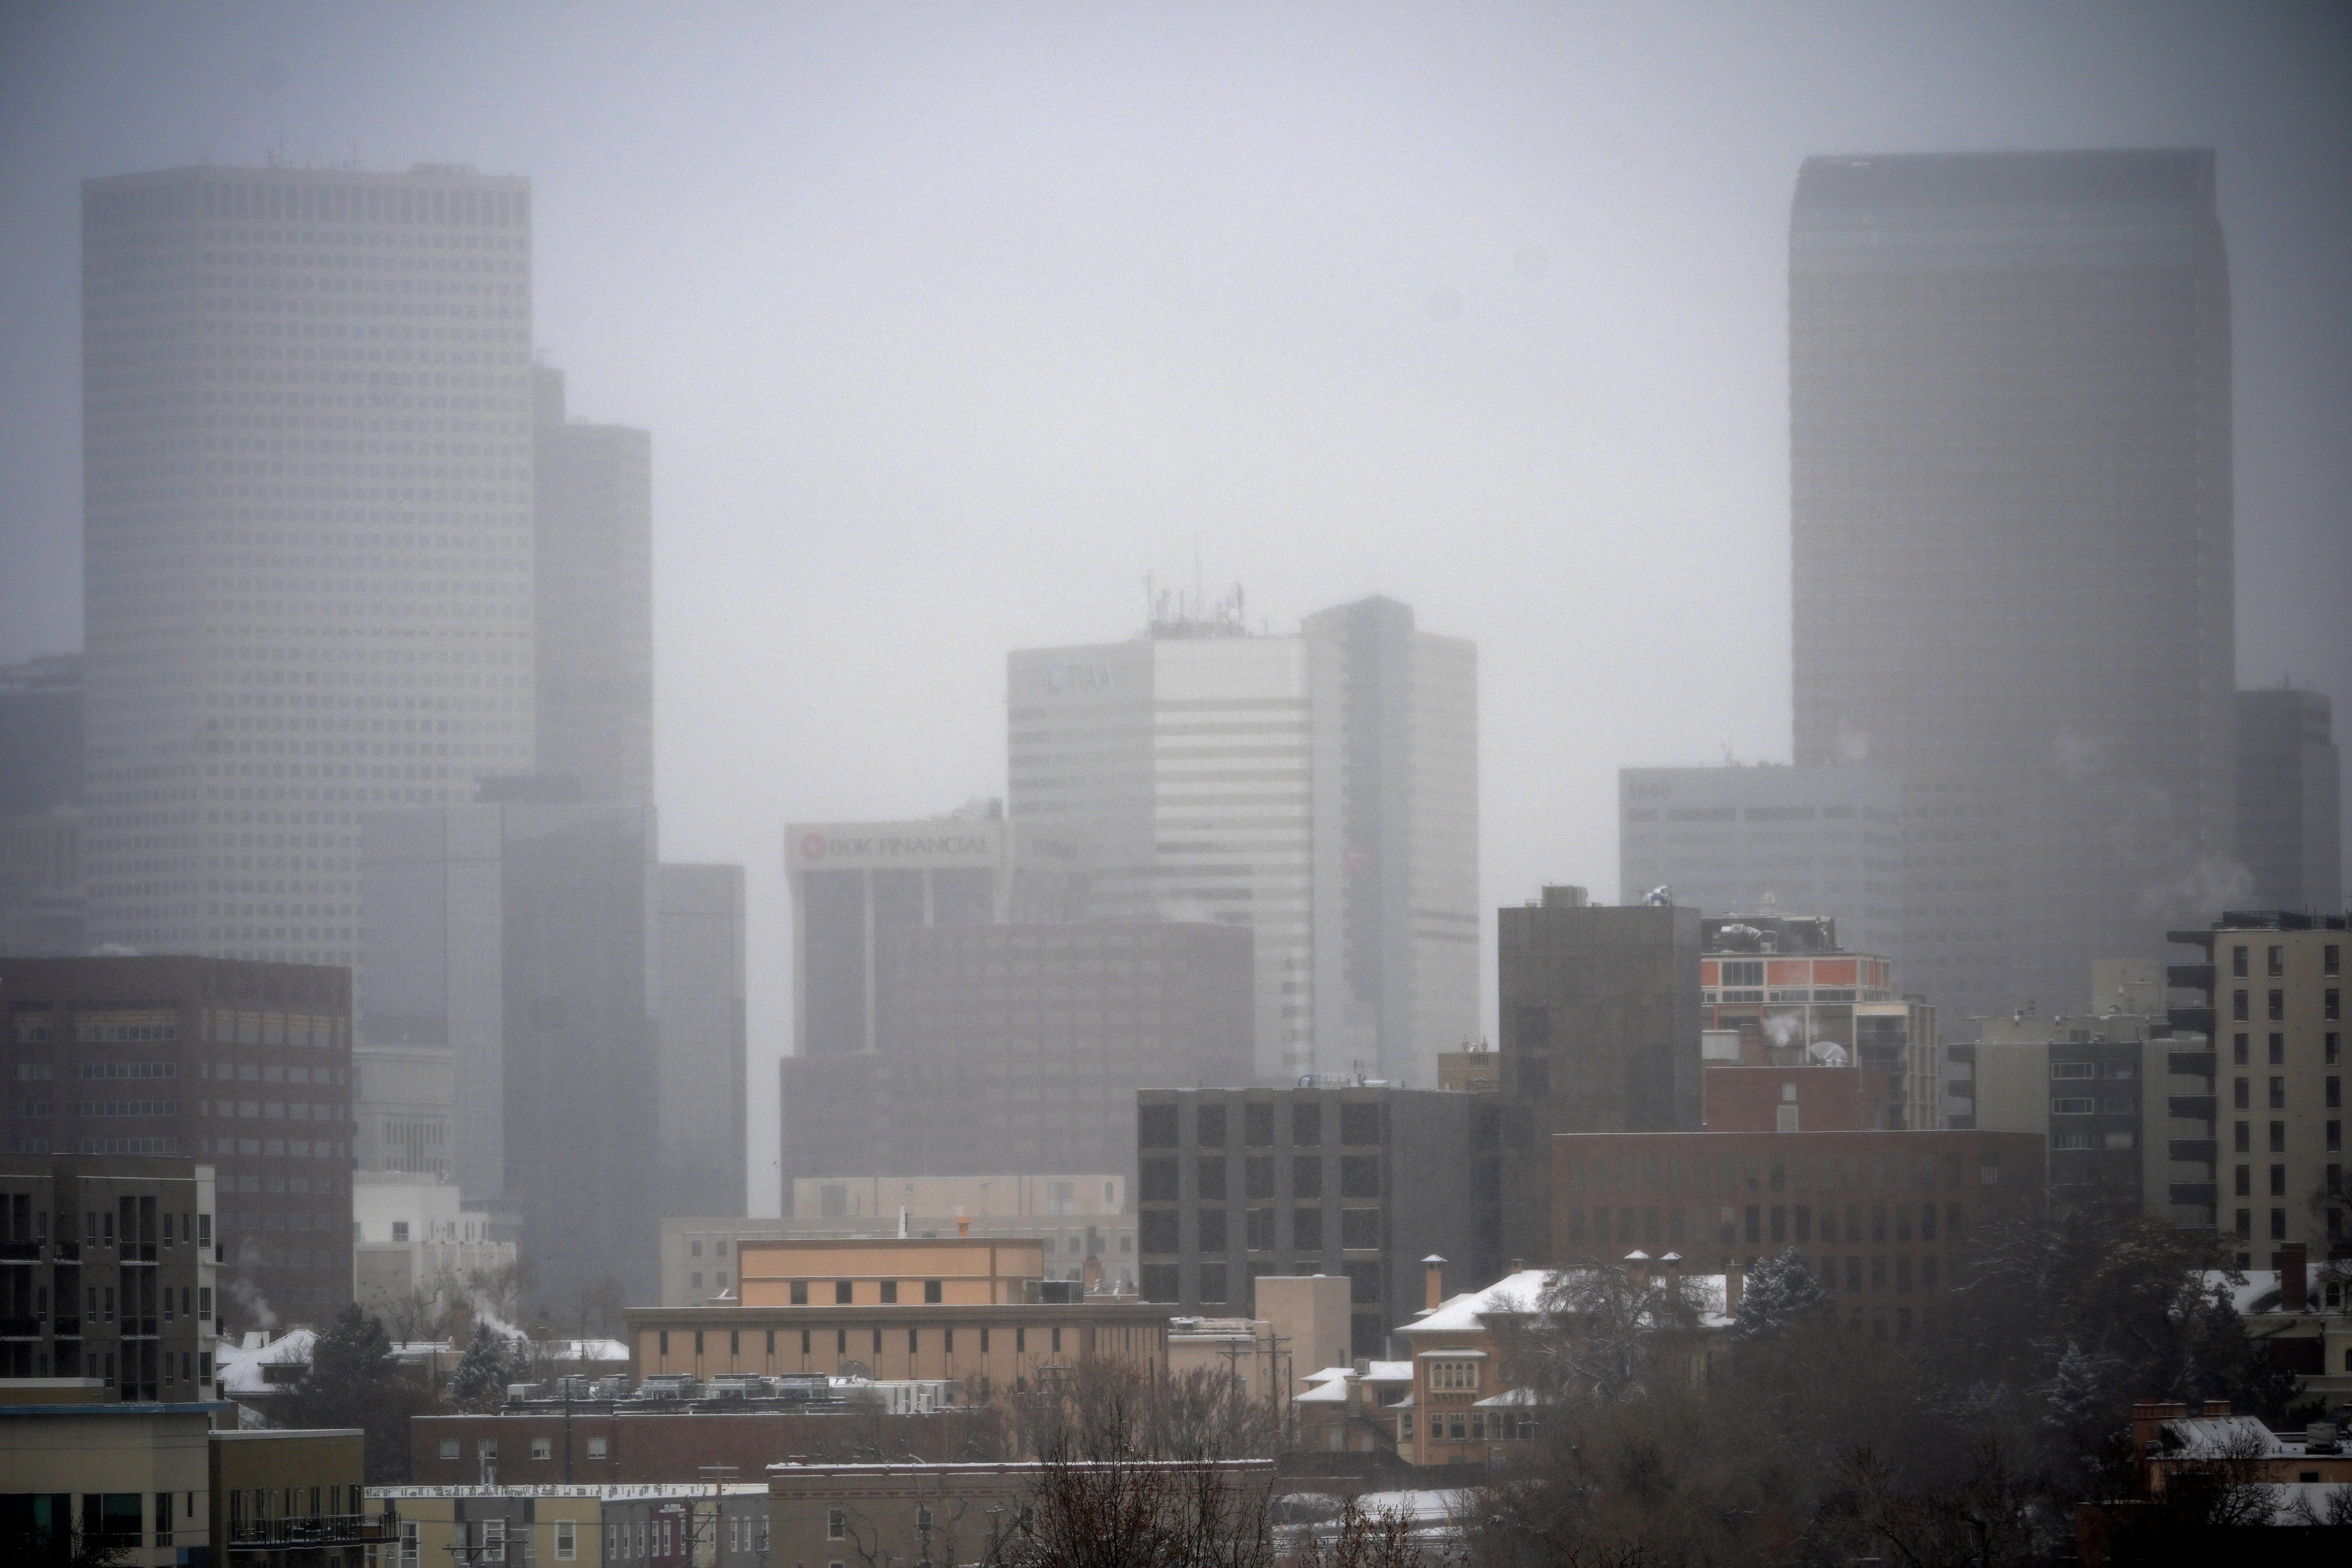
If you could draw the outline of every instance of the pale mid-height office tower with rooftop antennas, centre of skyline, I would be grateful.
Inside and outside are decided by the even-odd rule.
[[[1432,1084],[1477,1034],[1477,651],[1362,599],[1240,602],[1009,658],[1011,813],[1089,851],[1089,919],[1256,943],[1256,1070]]]

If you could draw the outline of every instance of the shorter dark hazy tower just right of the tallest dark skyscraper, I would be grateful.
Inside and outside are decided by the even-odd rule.
[[[2343,907],[2343,757],[2324,691],[2237,693],[2237,858],[2258,910]]]

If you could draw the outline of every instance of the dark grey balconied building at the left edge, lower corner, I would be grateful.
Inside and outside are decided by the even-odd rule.
[[[212,1166],[0,1154],[0,1378],[212,1399],[214,1237]]]

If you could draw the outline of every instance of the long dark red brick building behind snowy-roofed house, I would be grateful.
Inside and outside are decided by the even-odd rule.
[[[1639,1248],[1715,1274],[1799,1246],[1851,1326],[1903,1335],[1969,1232],[2042,1185],[2034,1133],[1562,1133],[1552,1258]]]

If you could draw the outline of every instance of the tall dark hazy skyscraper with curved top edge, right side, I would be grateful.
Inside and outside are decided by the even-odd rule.
[[[1790,491],[1795,759],[1903,778],[1905,985],[2159,952],[2237,827],[2213,155],[1806,160]]]

